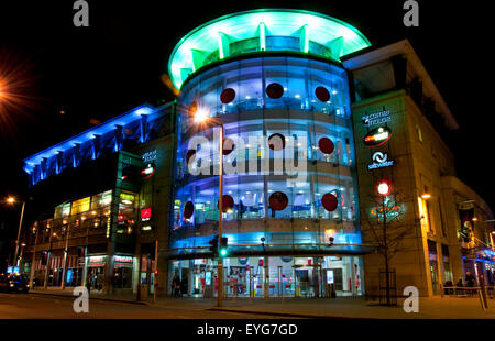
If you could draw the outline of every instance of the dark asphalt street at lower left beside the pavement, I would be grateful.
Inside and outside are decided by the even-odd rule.
[[[73,310],[75,297],[36,294],[0,294],[0,319],[270,319],[268,315],[211,311],[205,306],[179,308],[89,300],[88,314]]]

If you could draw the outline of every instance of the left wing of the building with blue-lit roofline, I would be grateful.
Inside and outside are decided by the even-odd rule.
[[[154,283],[155,244],[167,243],[174,121],[174,102],[144,105],[24,161],[38,210],[21,252],[31,285],[90,280],[94,290],[136,293]]]

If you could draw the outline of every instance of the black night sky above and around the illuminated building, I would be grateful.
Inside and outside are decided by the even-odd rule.
[[[89,28],[74,26],[73,0],[0,3],[0,84],[9,75],[20,99],[9,106],[0,99],[0,197],[25,198],[24,157],[90,128],[90,121],[173,99],[161,75],[190,30],[232,12],[294,8],[343,20],[374,46],[409,38],[461,125],[448,141],[458,176],[495,207],[495,119],[487,106],[493,86],[485,80],[493,69],[486,51],[493,19],[475,1],[419,0],[419,28],[404,26],[403,0],[87,2]],[[19,213],[19,207],[0,204],[0,224],[15,234]]]

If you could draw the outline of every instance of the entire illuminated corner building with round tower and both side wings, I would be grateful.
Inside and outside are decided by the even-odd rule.
[[[328,15],[253,10],[189,32],[168,70],[176,101],[25,160],[43,209],[21,267],[37,285],[170,294],[177,275],[217,295],[220,141],[227,296],[381,293],[383,227],[400,237],[397,295],[495,279],[493,213],[455,177],[442,136],[458,123],[407,41],[372,48]]]

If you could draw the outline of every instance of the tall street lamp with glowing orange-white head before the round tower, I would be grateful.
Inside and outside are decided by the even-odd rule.
[[[195,123],[205,123],[210,118],[204,109],[198,109],[194,113]],[[222,241],[222,213],[223,213],[223,123],[219,123],[220,125],[220,147],[219,147],[219,179],[218,179],[218,250],[221,249]],[[223,306],[223,257],[218,255],[218,295],[217,295],[217,306]]]

